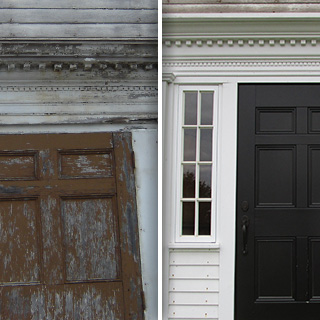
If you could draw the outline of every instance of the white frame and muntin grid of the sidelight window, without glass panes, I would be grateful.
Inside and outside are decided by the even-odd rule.
[[[185,93],[186,92],[197,92],[198,96],[198,108],[197,108],[197,124],[196,125],[185,125]],[[212,125],[201,125],[201,95],[203,92],[213,92],[213,123]],[[188,85],[179,86],[178,96],[178,121],[177,121],[177,164],[178,164],[178,176],[179,184],[177,185],[177,202],[176,202],[176,242],[215,242],[216,241],[216,222],[217,222],[217,142],[218,142],[218,86],[206,86],[206,85]],[[184,129],[194,128],[197,130],[196,140],[196,160],[195,161],[184,161]],[[212,158],[211,161],[199,161],[200,157],[200,130],[201,129],[212,129]],[[190,164],[195,165],[195,197],[194,198],[183,198],[183,165]],[[200,198],[199,197],[199,168],[201,165],[212,165],[211,171],[211,197]],[[194,235],[182,235],[182,206],[183,202],[195,202],[195,234]],[[210,235],[198,235],[198,224],[199,224],[199,203],[200,202],[211,202],[211,234]]]

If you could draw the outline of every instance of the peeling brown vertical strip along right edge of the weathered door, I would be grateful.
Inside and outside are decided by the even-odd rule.
[[[128,272],[122,268],[124,281],[124,297],[126,302],[126,313],[128,319],[144,319],[142,301],[142,282],[139,252],[139,232],[137,221],[137,207],[134,171],[132,165],[132,137],[131,133],[124,132],[114,134],[116,178],[118,208],[120,216],[120,239],[122,266],[130,265]]]

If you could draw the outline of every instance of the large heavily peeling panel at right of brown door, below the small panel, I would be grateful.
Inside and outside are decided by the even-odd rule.
[[[113,199],[61,199],[66,281],[119,279],[119,233]]]

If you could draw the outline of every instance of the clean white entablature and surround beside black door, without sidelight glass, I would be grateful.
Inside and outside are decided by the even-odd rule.
[[[238,85],[320,82],[320,16],[169,13],[163,22],[163,318],[234,320]],[[181,243],[177,190],[186,90],[218,97],[216,233],[208,241]]]

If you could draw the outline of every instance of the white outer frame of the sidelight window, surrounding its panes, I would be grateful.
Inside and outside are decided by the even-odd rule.
[[[177,112],[177,184],[176,194],[175,194],[175,242],[177,243],[212,243],[217,239],[217,174],[218,174],[218,135],[219,135],[219,87],[213,85],[180,85],[178,89],[178,112]],[[182,181],[183,181],[183,119],[184,119],[184,93],[197,91],[198,92],[198,102],[200,101],[200,92],[213,92],[213,139],[212,139],[212,174],[211,174],[211,188],[212,188],[212,198],[206,199],[211,201],[211,235],[182,235]],[[199,110],[197,113],[199,117]],[[204,125],[205,127],[205,125]],[[197,130],[199,130],[199,125],[197,125]],[[199,135],[197,135],[197,153],[199,152]],[[196,163],[196,172],[198,171],[198,161]],[[197,188],[197,186],[196,186]],[[195,202],[198,198],[195,197]],[[204,200],[205,201],[205,200]],[[197,206],[196,206],[197,208]],[[195,219],[198,219],[198,210],[195,212]],[[195,221],[195,229],[197,228],[198,221]]]

